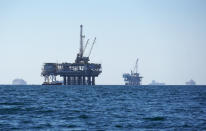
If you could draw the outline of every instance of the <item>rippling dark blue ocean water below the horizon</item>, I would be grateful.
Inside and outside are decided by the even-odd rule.
[[[206,86],[0,86],[0,130],[206,130]]]

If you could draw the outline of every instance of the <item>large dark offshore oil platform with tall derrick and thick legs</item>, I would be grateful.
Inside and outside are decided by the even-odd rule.
[[[84,45],[83,25],[80,25],[80,48],[74,63],[45,63],[41,75],[44,77],[42,85],[95,85],[95,77],[102,72],[101,64],[89,63],[89,57],[96,38],[91,45],[89,55],[84,56],[89,39]],[[57,81],[56,77],[63,77]]]

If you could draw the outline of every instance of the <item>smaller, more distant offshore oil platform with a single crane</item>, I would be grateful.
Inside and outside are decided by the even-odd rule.
[[[131,85],[131,86],[141,85],[142,77],[139,75],[137,69],[138,69],[138,59],[136,60],[134,70],[131,71],[131,74],[129,73],[123,74],[125,85]]]

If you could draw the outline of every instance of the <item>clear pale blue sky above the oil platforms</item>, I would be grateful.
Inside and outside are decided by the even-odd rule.
[[[205,0],[1,0],[0,84],[41,84],[46,62],[74,62],[80,24],[96,37],[96,84],[124,84],[139,58],[142,84],[206,84]]]

